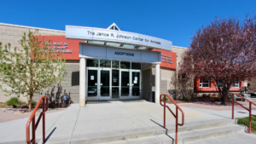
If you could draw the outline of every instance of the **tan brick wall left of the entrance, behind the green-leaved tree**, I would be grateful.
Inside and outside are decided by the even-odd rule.
[[[35,30],[38,29],[38,34],[42,36],[48,36],[48,35],[55,35],[55,36],[65,36],[65,31],[57,31],[57,30],[50,30],[50,29],[43,29],[38,27],[30,27],[30,26],[15,26],[15,25],[9,25],[9,24],[3,24],[0,23],[0,42],[2,42],[2,46],[5,44],[11,43],[11,47],[17,49],[20,49],[20,43],[18,41],[23,36],[24,32],[28,33],[29,31],[35,32]],[[67,72],[68,76],[64,79],[64,82],[67,84],[61,84],[62,85],[62,91],[66,89],[66,92],[70,93],[71,100],[75,103],[79,102],[79,61],[67,61]],[[0,82],[1,84],[1,82]],[[7,85],[1,84],[3,88],[10,89]],[[55,85],[56,86],[56,85]],[[55,87],[55,91],[56,91]],[[43,95],[45,94],[45,90],[42,91]],[[4,96],[3,91],[0,91],[0,102],[5,102],[9,100],[10,97],[16,96]],[[40,95],[34,96],[34,100],[38,100]],[[20,95],[21,101],[27,101],[27,97],[24,95]]]

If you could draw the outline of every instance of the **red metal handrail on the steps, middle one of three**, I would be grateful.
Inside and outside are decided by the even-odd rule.
[[[164,105],[162,104],[162,101],[161,101],[162,96],[165,96],[165,97],[164,97]],[[172,112],[172,110],[171,110],[168,106],[166,106],[166,96],[167,96],[167,97],[169,98],[169,100],[171,100],[171,101],[173,102],[173,104],[176,106],[176,115]],[[162,107],[164,107],[164,128],[166,128],[166,107],[167,107],[168,110],[172,113],[173,117],[176,119],[175,143],[177,144],[177,125],[182,126],[182,125],[184,124],[184,112],[183,112],[183,110],[182,110],[180,107],[177,106],[177,103],[176,103],[175,101],[173,101],[172,98],[171,98],[169,95],[167,95],[167,94],[161,94],[161,95],[160,95],[160,105],[161,105]],[[182,121],[183,121],[182,124],[177,123],[177,109],[179,109],[179,111],[182,112],[182,115],[183,115],[183,117],[182,117]]]

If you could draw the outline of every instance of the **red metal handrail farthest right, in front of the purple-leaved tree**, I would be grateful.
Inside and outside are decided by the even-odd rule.
[[[229,95],[232,95],[232,101],[229,101]],[[228,93],[227,96],[226,96],[226,100],[228,102],[231,102],[232,103],[232,119],[234,119],[234,103],[240,105],[241,107],[243,107],[240,103],[234,101],[234,95],[238,95],[238,94],[235,94],[235,93]],[[241,96],[241,95],[238,95],[241,97],[241,99],[244,99],[246,101],[249,101],[247,98]],[[253,101],[249,101],[249,109],[247,107],[243,107],[244,109],[246,109],[247,111],[249,111],[249,128],[248,128],[248,133],[251,133],[251,130],[252,130],[252,123],[251,123],[251,117],[256,117],[256,115],[253,115],[252,114],[252,104],[254,106],[256,106],[255,103],[253,103]]]

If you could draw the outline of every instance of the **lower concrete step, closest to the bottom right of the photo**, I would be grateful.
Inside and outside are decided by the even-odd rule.
[[[239,135],[239,136],[238,136]],[[231,141],[231,138],[237,137],[240,139],[239,141],[247,141],[247,142],[255,142],[255,138],[241,136],[245,135],[243,132],[243,128],[237,125],[229,125],[218,128],[212,128],[207,130],[193,130],[189,132],[183,132],[178,134],[177,143],[184,144],[204,144],[205,142],[218,144],[218,139],[224,139],[223,137],[228,137],[230,140],[230,144],[236,143],[236,141]],[[216,139],[218,137],[218,139]],[[220,138],[219,138],[220,137]],[[124,141],[112,141],[112,142],[103,142],[101,144],[173,144],[175,135],[153,135],[147,137],[141,137],[137,139],[130,139]],[[212,138],[212,139],[209,139]],[[238,142],[238,140],[237,140]],[[222,142],[224,143],[224,142]]]

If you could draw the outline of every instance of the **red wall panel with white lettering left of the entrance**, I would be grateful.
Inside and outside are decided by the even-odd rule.
[[[65,36],[38,36],[38,40],[43,40],[43,37],[45,43],[41,43],[42,47],[47,43],[47,49],[52,53],[62,52],[61,59],[79,60],[79,42],[82,42],[81,40],[67,39]]]

